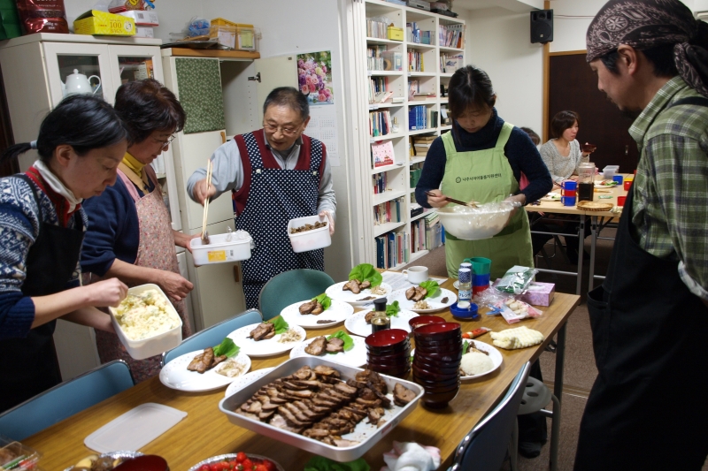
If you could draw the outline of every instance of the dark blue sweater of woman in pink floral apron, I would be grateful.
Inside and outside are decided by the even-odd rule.
[[[142,191],[137,188],[141,196]],[[103,277],[115,259],[135,263],[140,246],[140,223],[135,201],[122,179],[100,196],[84,201],[89,228],[81,247],[81,271]]]

